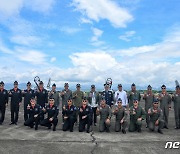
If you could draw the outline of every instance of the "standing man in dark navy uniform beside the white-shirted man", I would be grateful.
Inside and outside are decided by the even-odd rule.
[[[109,105],[110,107],[113,106],[113,92],[109,90],[109,84],[105,83],[104,84],[105,90],[102,92],[102,97],[106,100],[106,104]]]

